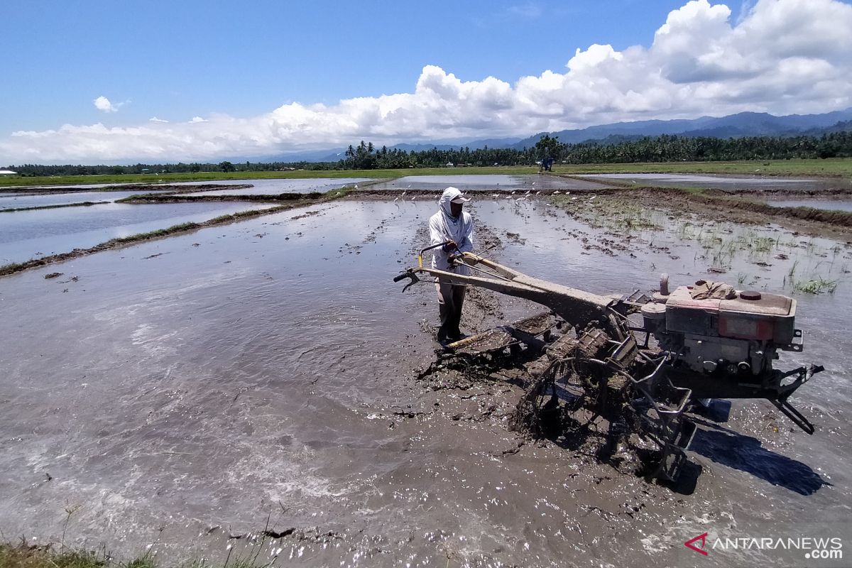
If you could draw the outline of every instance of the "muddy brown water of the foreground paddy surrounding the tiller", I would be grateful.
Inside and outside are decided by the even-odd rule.
[[[648,289],[661,271],[674,284],[712,266],[697,221],[626,239],[544,201],[472,205],[475,243],[499,238],[498,261],[587,290]],[[231,545],[277,565],[694,565],[683,542],[705,531],[788,536],[797,521],[817,531],[849,519],[848,279],[833,295],[796,295],[807,350],[780,362],[830,370],[795,398],[818,433],[736,402],[728,422],[703,426],[691,455],[703,471],[679,494],[520,445],[503,418],[517,387],[415,380],[432,358],[434,291],[400,294],[390,278],[433,209],[338,202],[0,280],[0,530],[58,541],[66,508],[81,505],[66,541],[119,554],[153,543],[165,558],[224,559]],[[802,262],[835,245],[763,230],[801,247]],[[54,271],[78,280],[43,279]],[[537,309],[493,301],[497,313],[466,308],[463,325]],[[252,538],[267,526],[294,531]],[[711,554],[715,565],[803,563]]]

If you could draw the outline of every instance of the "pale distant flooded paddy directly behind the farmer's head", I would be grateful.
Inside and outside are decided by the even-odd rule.
[[[408,175],[394,181],[370,186],[377,190],[428,189],[441,191],[447,186],[458,187],[463,192],[472,191],[530,191],[602,189],[605,185],[594,181],[561,178],[556,175]]]

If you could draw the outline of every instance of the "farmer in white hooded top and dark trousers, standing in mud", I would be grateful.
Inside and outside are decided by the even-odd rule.
[[[450,255],[458,252],[469,252],[474,249],[474,220],[469,213],[463,212],[465,198],[456,187],[447,187],[438,200],[438,212],[429,219],[429,235],[431,244],[446,243],[435,249],[432,256],[432,267],[438,270],[467,275],[468,267],[452,267],[449,264]],[[464,335],[458,328],[462,319],[464,284],[452,284],[446,279],[438,279],[435,284],[438,290],[438,313],[440,327],[438,341],[458,341]]]

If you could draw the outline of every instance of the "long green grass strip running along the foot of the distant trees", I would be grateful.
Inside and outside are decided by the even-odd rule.
[[[187,174],[3,176],[0,187],[78,184],[160,183],[170,181],[292,180],[320,177],[390,179],[405,175],[533,175],[538,166],[474,168],[321,169],[297,171],[198,172]],[[737,162],[668,162],[661,164],[556,164],[556,175],[584,174],[723,174],[852,177],[852,158],[825,160],[742,160]]]

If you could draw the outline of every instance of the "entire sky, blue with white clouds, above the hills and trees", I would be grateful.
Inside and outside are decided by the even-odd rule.
[[[850,14],[839,0],[7,0],[0,164],[827,112],[852,106]]]

